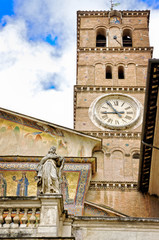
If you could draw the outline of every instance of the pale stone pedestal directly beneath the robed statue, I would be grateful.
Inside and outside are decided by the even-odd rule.
[[[40,195],[41,213],[38,235],[41,237],[58,237],[61,233],[60,217],[64,210],[61,194]]]

